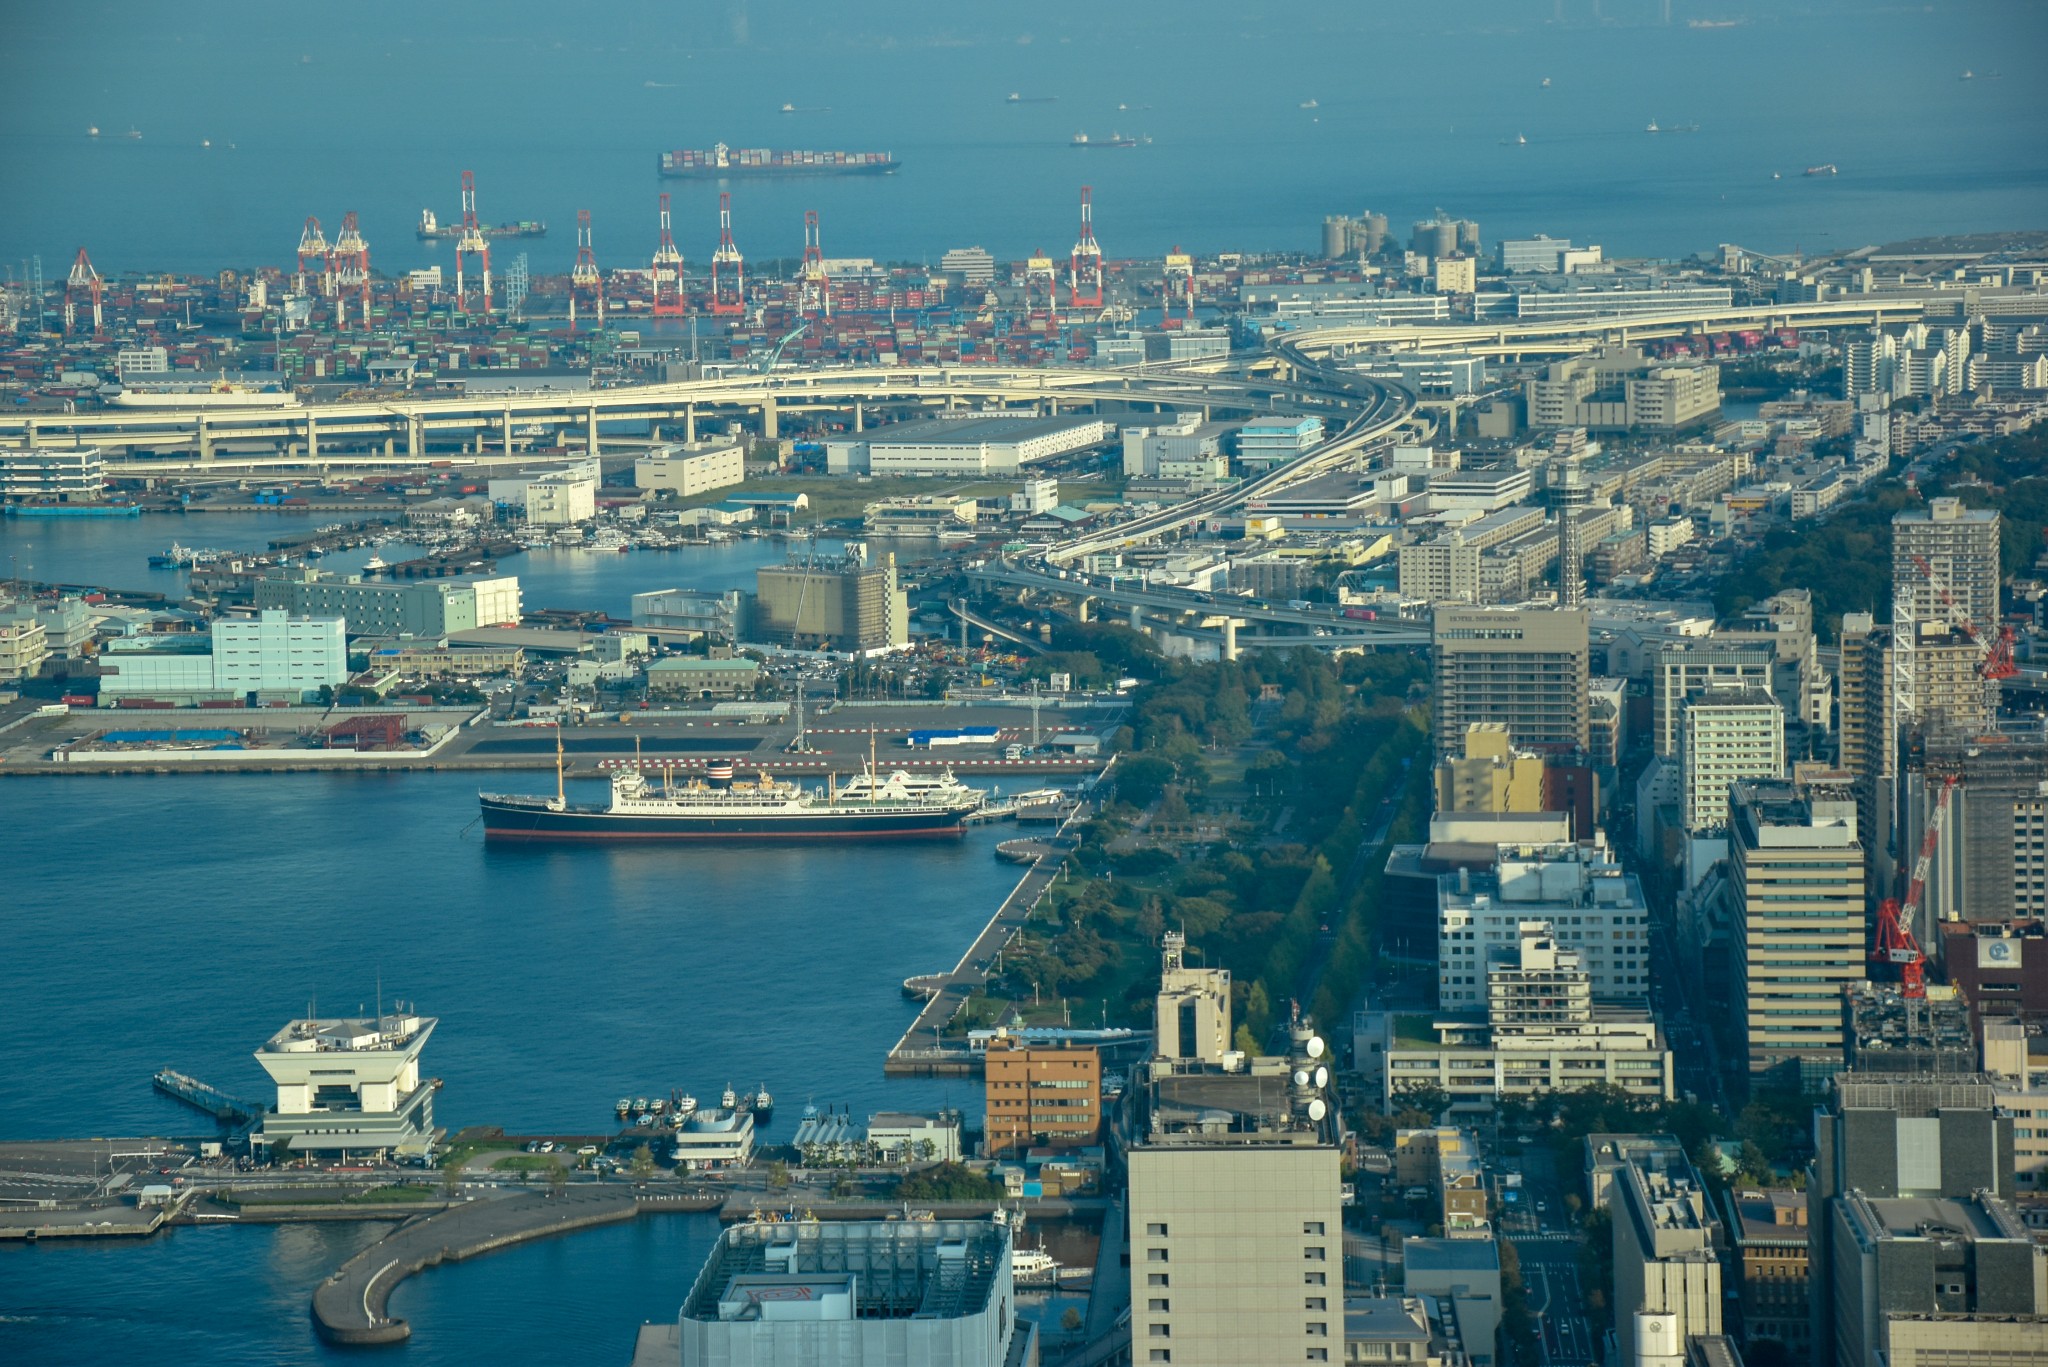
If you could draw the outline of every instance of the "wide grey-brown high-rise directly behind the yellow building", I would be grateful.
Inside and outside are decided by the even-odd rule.
[[[1587,746],[1583,609],[1438,609],[1434,656],[1438,754],[1456,754],[1475,721],[1503,723],[1518,750]]]

